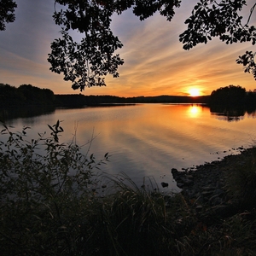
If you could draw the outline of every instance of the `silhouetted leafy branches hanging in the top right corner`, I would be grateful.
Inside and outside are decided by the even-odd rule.
[[[256,43],[256,27],[250,26],[256,3],[250,9],[248,17],[243,17],[241,11],[247,6],[245,0],[201,0],[192,10],[187,30],[180,35],[183,49],[191,49],[197,44],[207,44],[209,40],[218,37],[226,44],[251,42]],[[246,19],[247,18],[247,19]],[[256,52],[247,51],[236,60],[242,64],[244,72],[252,73],[256,79]]]

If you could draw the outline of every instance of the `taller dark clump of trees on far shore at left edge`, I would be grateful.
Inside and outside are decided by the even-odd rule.
[[[40,89],[32,84],[22,84],[16,88],[0,84],[0,107],[44,107],[55,108],[55,94],[49,89]]]

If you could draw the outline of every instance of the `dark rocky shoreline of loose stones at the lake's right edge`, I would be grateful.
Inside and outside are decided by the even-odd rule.
[[[172,168],[173,179],[181,193],[189,200],[196,200],[198,209],[207,204],[210,207],[225,204],[227,201],[224,190],[224,173],[232,166],[242,166],[252,156],[255,148],[241,148],[240,154],[224,156],[222,160],[214,160],[193,170],[177,171]]]

